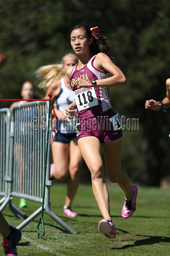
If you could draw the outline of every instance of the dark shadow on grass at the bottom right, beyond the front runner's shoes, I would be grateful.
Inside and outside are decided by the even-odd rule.
[[[140,236],[140,235],[138,235],[138,236]],[[131,247],[141,246],[141,245],[152,245],[152,244],[158,244],[160,242],[168,242],[168,243],[170,242],[170,238],[168,238],[166,236],[144,236],[144,237],[146,237],[146,238],[142,239],[142,240],[137,240],[132,245],[124,245],[119,248],[112,248],[111,250],[123,250],[123,249],[128,249]]]

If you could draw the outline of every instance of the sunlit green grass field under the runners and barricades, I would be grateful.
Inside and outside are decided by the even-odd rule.
[[[109,185],[108,190],[116,239],[106,239],[97,230],[102,216],[91,185],[79,186],[73,202],[73,210],[78,217],[71,219],[63,216],[66,185],[55,184],[51,187],[51,210],[78,234],[68,234],[45,212],[45,236],[37,238],[38,217],[22,230],[22,239],[17,246],[18,256],[170,255],[170,190],[138,187],[137,210],[129,219],[121,217],[124,194],[119,186]],[[13,203],[18,206],[19,199],[14,198]],[[39,203],[28,201],[24,212],[30,215],[39,207]],[[13,226],[22,222],[7,207],[3,213]],[[2,247],[0,255],[4,255]]]

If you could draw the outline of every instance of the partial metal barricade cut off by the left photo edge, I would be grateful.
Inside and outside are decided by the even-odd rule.
[[[10,147],[10,121],[11,111],[9,108],[0,109],[0,205],[7,197],[8,191],[8,164],[9,164],[9,147]]]

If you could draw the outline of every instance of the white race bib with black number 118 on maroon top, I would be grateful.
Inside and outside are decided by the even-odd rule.
[[[79,111],[98,105],[94,87],[78,89],[74,91],[74,94],[76,105]]]

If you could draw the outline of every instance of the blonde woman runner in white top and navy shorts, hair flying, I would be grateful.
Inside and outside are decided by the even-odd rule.
[[[82,156],[77,143],[75,124],[77,118],[67,118],[65,113],[69,103],[74,101],[74,93],[70,88],[70,81],[66,71],[77,63],[73,54],[67,54],[62,58],[61,64],[40,67],[37,77],[41,79],[40,87],[46,91],[46,96],[52,92],[52,103],[56,111],[56,138],[51,145],[53,164],[51,175],[59,181],[64,181],[68,175],[68,190],[64,203],[64,216],[76,217],[77,213],[71,209],[75,193],[79,185],[80,167]]]

